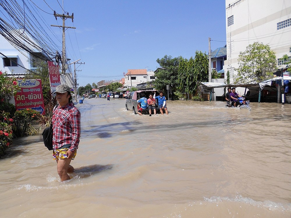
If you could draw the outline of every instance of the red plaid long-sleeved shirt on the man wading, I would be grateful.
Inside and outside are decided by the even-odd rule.
[[[53,147],[58,149],[65,144],[71,144],[70,151],[78,149],[81,125],[81,114],[73,102],[66,106],[58,106],[53,111]]]

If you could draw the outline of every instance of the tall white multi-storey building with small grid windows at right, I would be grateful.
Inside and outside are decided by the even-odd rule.
[[[224,70],[230,72],[230,83],[237,74],[239,52],[254,42],[269,45],[278,67],[285,67],[278,59],[285,54],[291,59],[291,1],[226,0],[226,41]]]

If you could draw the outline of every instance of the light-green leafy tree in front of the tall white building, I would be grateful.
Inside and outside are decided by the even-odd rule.
[[[269,45],[254,42],[246,47],[246,51],[239,53],[238,65],[234,83],[258,83],[272,78],[276,69],[276,56]]]

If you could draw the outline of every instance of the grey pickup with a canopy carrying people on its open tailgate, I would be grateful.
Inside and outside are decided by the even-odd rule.
[[[149,94],[156,94],[156,96],[159,96],[159,92],[156,90],[139,90],[139,91],[134,91],[130,93],[128,97],[125,97],[126,102],[125,102],[125,109],[126,110],[132,110],[134,114],[137,114],[137,111],[139,109],[139,105],[137,103],[137,100],[139,100],[142,96],[142,94],[145,94],[145,97],[148,99]],[[157,104],[157,101],[156,101]],[[156,105],[157,106],[157,105]],[[143,109],[143,114],[149,114],[148,109]],[[152,114],[154,112],[152,111]],[[160,113],[159,108],[157,108],[157,113]]]

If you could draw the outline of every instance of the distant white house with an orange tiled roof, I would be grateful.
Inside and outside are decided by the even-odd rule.
[[[155,80],[155,73],[146,69],[129,69],[124,75],[124,87],[136,87],[137,84]]]

